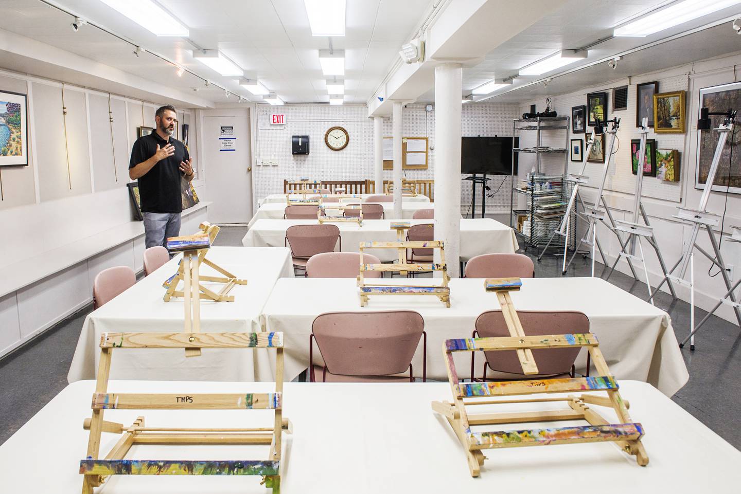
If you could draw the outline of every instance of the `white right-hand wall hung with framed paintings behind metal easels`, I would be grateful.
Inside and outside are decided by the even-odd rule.
[[[668,92],[674,90],[687,90],[687,128],[685,134],[656,134],[651,131],[648,138],[655,138],[657,147],[677,149],[680,153],[681,176],[680,182],[665,182],[654,177],[645,177],[643,181],[642,202],[645,210],[650,217],[651,224],[654,226],[654,232],[657,236],[659,247],[668,267],[682,256],[684,244],[688,241],[691,227],[672,218],[677,214],[677,206],[696,208],[702,195],[702,190],[694,188],[695,177],[695,160],[697,156],[697,116],[700,113],[699,91],[702,87],[710,87],[718,84],[727,84],[738,80],[737,64],[741,64],[741,55],[726,56],[718,59],[697,61],[694,64],[687,64],[681,67],[674,67],[668,70],[662,70],[660,73],[646,73],[634,76],[630,81],[628,79],[618,79],[600,86],[585,87],[575,93],[565,95],[551,96],[553,107],[559,115],[571,115],[571,107],[586,104],[587,93],[601,90],[611,90],[613,87],[619,87],[630,82],[628,87],[628,110],[612,113],[611,93],[608,95],[608,118],[613,116],[621,117],[621,127],[618,133],[620,147],[614,156],[614,162],[608,170],[608,178],[605,182],[605,198],[608,204],[613,208],[616,218],[632,220],[633,192],[635,190],[635,177],[631,171],[630,162],[630,140],[639,138],[638,129],[635,127],[635,99],[636,84],[646,81],[658,81],[659,92]],[[520,106],[520,111],[528,110],[530,104],[538,104],[538,110],[541,111],[545,97],[524,101]],[[591,132],[591,128],[587,129]],[[588,135],[588,134],[587,134]],[[584,134],[572,136],[572,138],[583,138]],[[578,173],[580,163],[569,161],[570,173]],[[520,168],[521,174],[527,173],[523,167]],[[602,164],[588,164],[585,174],[590,177],[589,185],[582,189],[585,201],[594,201],[597,191],[598,180],[602,173]],[[730,225],[741,224],[741,196],[737,194],[728,195],[728,206],[725,207],[725,193],[714,192],[711,194],[708,202],[708,210],[714,213],[722,214],[725,210],[724,238],[727,238],[731,232]],[[583,225],[582,225],[583,227]],[[720,227],[716,229],[720,231]],[[581,235],[583,230],[579,232]],[[604,227],[598,229],[599,239],[602,247],[607,250],[608,258],[614,261],[620,246],[617,238]],[[700,246],[710,252],[711,245],[708,241],[707,234],[700,232]],[[649,276],[651,283],[655,287],[663,278],[663,273],[654,251],[651,247],[645,246],[644,251],[648,260]],[[722,242],[721,253],[727,264],[741,267],[741,246],[738,243],[729,242],[724,239]],[[599,256],[599,255],[598,255]],[[599,257],[598,257],[599,258]],[[717,303],[717,300],[725,294],[725,284],[719,276],[708,276],[710,262],[697,252],[695,256],[695,279],[696,279],[696,304],[703,309],[710,309]],[[630,273],[625,261],[620,261],[618,269],[623,273]],[[639,274],[642,278],[642,270],[638,267]],[[717,272],[717,270],[714,270]],[[736,270],[735,276],[741,276],[741,271]],[[643,279],[643,278],[642,278]],[[689,293],[684,287],[675,285],[678,295],[685,301],[689,300]],[[666,290],[666,287],[662,287]],[[718,316],[736,322],[736,318],[730,307],[722,306],[716,313]]]

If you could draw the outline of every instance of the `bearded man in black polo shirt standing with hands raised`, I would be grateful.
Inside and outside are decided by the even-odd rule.
[[[175,108],[159,108],[154,117],[156,129],[136,139],[131,150],[129,177],[139,179],[139,197],[144,216],[144,242],[149,247],[166,247],[167,237],[180,234],[182,198],[180,179],[193,180],[185,144],[173,138],[177,120]]]

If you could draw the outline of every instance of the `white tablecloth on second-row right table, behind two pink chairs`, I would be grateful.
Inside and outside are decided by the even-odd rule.
[[[406,278],[384,278],[384,282],[408,283]],[[416,278],[429,284],[431,278]],[[265,327],[285,333],[286,378],[293,378],[308,367],[311,324],[321,313],[336,311],[416,310],[425,318],[427,332],[427,375],[447,379],[440,348],[447,338],[470,338],[476,318],[487,310],[499,310],[496,294],[486,293],[484,280],[451,280],[451,307],[433,296],[371,296],[367,307],[360,307],[354,279],[280,279],[263,309]],[[290,301],[290,304],[286,303]],[[529,278],[522,290],[512,293],[518,310],[578,310],[590,321],[591,332],[619,379],[646,381],[668,396],[677,393],[688,380],[687,367],[677,346],[667,313],[600,278]],[[315,363],[322,360],[314,353]],[[457,354],[459,375],[468,378],[471,356]],[[415,375],[422,375],[422,344],[412,361]],[[483,356],[476,357],[476,375],[481,373]],[[583,373],[586,353],[576,359]],[[580,368],[581,367],[581,368]],[[267,368],[261,368],[262,380]],[[270,370],[270,372],[272,372]],[[592,374],[594,375],[594,369]]]

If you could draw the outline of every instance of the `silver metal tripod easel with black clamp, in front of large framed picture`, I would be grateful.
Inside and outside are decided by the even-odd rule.
[[[721,304],[724,303],[726,298],[730,299],[730,302],[726,301],[726,303],[729,303],[732,307],[734,307],[736,318],[739,322],[739,326],[741,326],[741,310],[739,304],[737,303],[736,296],[734,296],[734,289],[738,286],[738,283],[731,285],[731,279],[728,278],[728,271],[725,268],[725,262],[723,261],[723,258],[720,254],[720,247],[718,247],[718,242],[715,238],[715,232],[713,230],[713,227],[717,227],[720,223],[720,216],[714,213],[707,212],[708,199],[710,198],[710,193],[713,189],[715,176],[718,172],[718,164],[720,163],[720,156],[723,152],[723,146],[725,146],[725,141],[728,139],[728,134],[733,133],[734,130],[734,119],[736,118],[736,110],[729,110],[726,113],[711,113],[708,112],[707,108],[702,108],[702,110],[700,111],[700,120],[697,121],[698,132],[700,132],[701,130],[708,130],[710,128],[710,119],[708,118],[710,115],[722,115],[725,116],[725,120],[721,125],[717,127],[717,129],[715,129],[718,132],[718,144],[715,147],[713,161],[710,165],[710,170],[708,171],[708,179],[707,181],[705,181],[705,190],[702,191],[702,196],[700,197],[700,205],[697,207],[697,210],[691,210],[687,207],[679,207],[677,208],[678,214],[674,216],[674,218],[680,219],[687,223],[692,223],[692,233],[690,236],[690,241],[687,243],[687,249],[682,253],[682,257],[679,258],[677,264],[674,264],[674,267],[672,267],[671,270],[668,271],[668,273],[665,273],[664,279],[662,279],[661,283],[659,283],[659,286],[657,287],[658,292],[661,285],[664,284],[664,281],[668,281],[671,279],[671,281],[677,281],[677,283],[684,284],[685,286],[688,286],[690,288],[690,301],[692,305],[690,333],[687,338],[685,338],[682,343],[679,344],[679,348],[682,348],[685,346],[687,341],[690,341],[690,350],[694,350],[694,333],[697,333],[697,331],[700,330],[702,324],[705,324],[705,321],[708,321],[710,316],[717,310],[718,307],[720,307]],[[708,238],[710,238],[710,243],[715,253],[714,257],[706,253],[705,250],[702,250],[702,247],[697,245],[697,233],[700,232],[700,228],[702,227],[704,227],[705,230],[707,230],[708,232]],[[722,232],[720,234],[722,235]],[[694,324],[694,276],[693,278],[691,278],[691,281],[686,281],[684,279],[687,273],[687,268],[690,266],[690,264],[692,264],[691,261],[695,249],[699,250],[703,256],[708,258],[711,263],[715,264],[718,269],[720,269],[720,274],[723,277],[723,282],[725,283],[725,287],[728,289],[728,292],[721,299],[720,303],[713,307],[713,310],[708,312],[708,315],[705,316],[705,318],[703,318],[702,321],[700,321],[700,324],[697,324],[697,326],[695,326]],[[674,270],[676,270],[677,267],[679,267],[679,271],[677,272],[679,276],[674,276],[671,273],[674,273]],[[654,292],[654,295],[655,294],[656,292]]]

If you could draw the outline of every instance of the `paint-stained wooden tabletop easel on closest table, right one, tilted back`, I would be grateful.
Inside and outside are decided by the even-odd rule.
[[[502,338],[461,338],[449,339],[443,344],[442,352],[448,367],[448,381],[453,390],[453,403],[433,401],[432,409],[448,419],[465,449],[471,476],[478,477],[485,457],[481,450],[490,448],[547,446],[549,444],[571,444],[598,441],[614,441],[630,455],[635,455],[639,465],[648,464],[648,455],[640,441],[643,435],[641,424],[631,422],[628,415],[628,402],[618,391],[617,382],[610,374],[605,358],[599,351],[597,338],[591,334],[525,336],[516,310],[509,295],[519,290],[519,278],[488,279],[487,291],[496,293],[502,316],[510,335]],[[537,374],[538,368],[532,350],[565,347],[586,347],[589,351],[599,377],[536,379],[531,381],[489,381],[467,382],[459,380],[453,362],[454,352],[475,352],[493,350],[516,350],[522,371]],[[594,395],[568,395],[566,398],[508,398],[492,399],[497,396],[531,395],[534,393],[606,391],[607,397]],[[512,403],[539,403],[544,401],[564,401],[568,409],[518,413],[485,413],[469,415],[467,406],[496,405]],[[610,424],[588,405],[611,407],[620,423]],[[487,424],[520,424],[546,421],[588,421],[588,426],[548,427],[531,430],[491,430],[474,432],[471,426]]]

